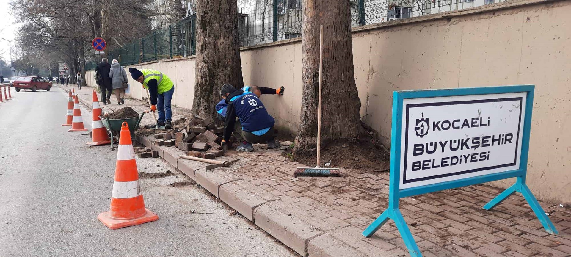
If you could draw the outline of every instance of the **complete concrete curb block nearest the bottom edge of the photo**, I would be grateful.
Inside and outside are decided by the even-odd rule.
[[[254,222],[301,256],[307,256],[306,240],[321,234],[321,231],[312,228],[310,224],[272,203],[256,208]]]

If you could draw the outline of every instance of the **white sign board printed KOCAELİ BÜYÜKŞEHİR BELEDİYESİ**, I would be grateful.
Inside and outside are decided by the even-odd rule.
[[[520,167],[526,93],[403,99],[400,189]]]

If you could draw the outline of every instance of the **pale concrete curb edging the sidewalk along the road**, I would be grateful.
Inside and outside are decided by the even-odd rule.
[[[159,155],[172,166],[302,256],[310,254],[307,251],[309,240],[324,234],[320,227],[335,229],[331,224],[318,219],[312,220],[314,224],[309,224],[297,218],[301,214],[286,210],[290,203],[262,189],[256,190],[254,184],[228,171],[234,169],[232,166],[206,171],[204,168],[206,164],[179,158],[178,155],[182,155],[182,151],[174,147],[153,144],[152,136],[136,136],[136,140],[158,151]]]

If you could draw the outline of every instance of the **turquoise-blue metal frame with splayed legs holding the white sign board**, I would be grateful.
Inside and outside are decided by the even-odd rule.
[[[392,131],[391,131],[391,175],[389,182],[389,204],[387,210],[375,219],[364,231],[365,237],[370,237],[383,224],[389,219],[395,221],[401,237],[407,246],[409,254],[412,257],[422,256],[415,239],[412,237],[411,231],[408,229],[407,223],[399,210],[399,199],[427,194],[429,192],[447,190],[451,188],[470,186],[472,184],[479,184],[491,182],[506,178],[517,178],[516,183],[510,186],[496,198],[492,199],[489,203],[484,205],[485,210],[491,210],[502,200],[508,198],[514,192],[520,192],[528,201],[529,206],[540,220],[541,224],[549,234],[557,235],[558,232],[553,226],[549,217],[545,215],[543,208],[537,202],[535,196],[525,184],[528,164],[528,150],[529,150],[529,132],[532,121],[533,109],[533,91],[534,85],[518,85],[518,86],[496,86],[496,87],[471,87],[463,89],[436,89],[436,90],[412,90],[412,91],[394,91],[393,92],[393,106],[392,106]],[[460,95],[484,95],[484,94],[505,94],[505,93],[526,93],[526,107],[524,114],[524,129],[521,145],[520,166],[517,170],[498,172],[495,174],[475,176],[472,178],[457,179],[448,182],[428,184],[425,186],[416,186],[411,188],[400,189],[400,159],[401,159],[401,134],[403,128],[403,99],[412,98],[432,98],[432,97],[453,97]]]

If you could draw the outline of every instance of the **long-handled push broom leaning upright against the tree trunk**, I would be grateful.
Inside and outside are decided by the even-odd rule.
[[[317,163],[315,168],[297,168],[293,176],[341,176],[339,168],[321,168],[321,69],[323,68],[323,25],[319,26],[319,95],[317,97]]]

